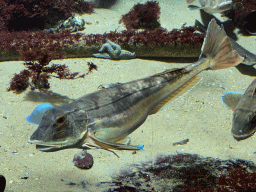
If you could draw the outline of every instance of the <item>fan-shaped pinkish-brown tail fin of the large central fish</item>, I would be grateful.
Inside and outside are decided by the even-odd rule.
[[[212,70],[236,66],[244,59],[232,48],[224,29],[215,19],[211,20],[207,28],[199,60],[205,58],[210,61],[209,68]]]

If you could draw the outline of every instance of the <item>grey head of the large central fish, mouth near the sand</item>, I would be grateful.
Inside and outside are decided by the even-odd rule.
[[[28,142],[44,152],[79,148],[87,132],[87,122],[83,110],[53,108],[44,113],[42,121]]]

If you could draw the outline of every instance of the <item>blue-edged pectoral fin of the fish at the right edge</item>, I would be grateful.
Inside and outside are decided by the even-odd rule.
[[[222,101],[226,107],[234,111],[243,95],[243,93],[228,92],[222,96]]]

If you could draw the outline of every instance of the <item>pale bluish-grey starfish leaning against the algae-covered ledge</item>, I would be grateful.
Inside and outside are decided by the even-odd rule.
[[[99,52],[100,53],[92,54],[92,56],[113,60],[134,59],[136,57],[135,53],[121,50],[121,47],[119,45],[113,43],[110,40],[106,40],[106,43],[102,45]]]

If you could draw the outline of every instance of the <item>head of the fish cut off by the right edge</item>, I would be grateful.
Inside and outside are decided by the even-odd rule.
[[[247,139],[256,131],[256,112],[235,110],[231,133],[236,140]]]

